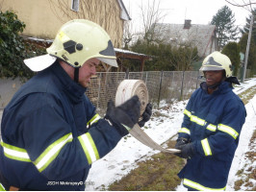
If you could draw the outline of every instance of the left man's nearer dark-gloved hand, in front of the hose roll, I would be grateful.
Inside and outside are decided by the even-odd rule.
[[[110,121],[121,136],[125,136],[138,123],[140,112],[141,103],[136,95],[117,108],[113,101],[109,101],[105,119]]]

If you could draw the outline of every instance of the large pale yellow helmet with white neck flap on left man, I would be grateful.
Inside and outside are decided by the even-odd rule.
[[[33,71],[40,71],[58,58],[79,68],[87,60],[97,58],[117,67],[110,36],[102,27],[86,19],[74,19],[65,23],[46,51],[47,55],[24,60],[25,64]]]

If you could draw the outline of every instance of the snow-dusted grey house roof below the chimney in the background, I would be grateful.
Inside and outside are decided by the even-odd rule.
[[[215,38],[216,26],[190,24],[189,29],[187,27],[184,29],[184,24],[156,23],[154,31],[167,43],[177,45],[192,43],[197,47],[198,55],[204,56],[211,40]]]

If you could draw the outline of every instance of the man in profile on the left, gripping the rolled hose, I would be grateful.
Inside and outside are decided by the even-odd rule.
[[[71,20],[46,51],[24,60],[38,74],[3,112],[2,190],[85,190],[91,163],[111,152],[139,121],[138,96],[117,108],[110,103],[100,118],[85,95],[100,60],[117,67],[110,36],[99,25]]]

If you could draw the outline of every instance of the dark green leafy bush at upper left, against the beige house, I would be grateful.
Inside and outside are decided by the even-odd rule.
[[[23,60],[45,53],[19,36],[25,27],[14,12],[0,11],[0,78],[31,78],[34,73]]]

